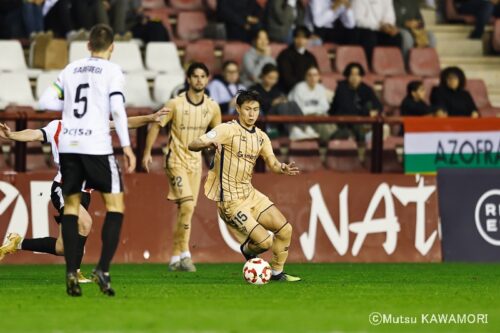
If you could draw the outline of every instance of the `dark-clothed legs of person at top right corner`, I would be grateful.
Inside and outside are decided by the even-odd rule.
[[[457,12],[473,15],[476,18],[474,30],[469,38],[481,39],[483,37],[484,27],[489,23],[495,11],[495,5],[499,3],[499,0],[455,0]]]

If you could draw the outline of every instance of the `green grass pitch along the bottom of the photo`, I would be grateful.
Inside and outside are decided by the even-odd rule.
[[[303,281],[265,286],[241,268],[115,265],[116,297],[88,284],[70,298],[63,266],[0,265],[0,332],[500,332],[498,264],[290,264]],[[486,313],[488,324],[373,326],[374,311]]]

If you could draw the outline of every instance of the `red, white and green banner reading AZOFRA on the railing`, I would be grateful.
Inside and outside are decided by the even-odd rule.
[[[404,119],[405,173],[440,168],[500,168],[499,118]]]

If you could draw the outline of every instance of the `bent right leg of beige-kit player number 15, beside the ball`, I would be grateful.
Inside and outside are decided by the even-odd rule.
[[[267,230],[274,233],[272,245],[273,258],[271,260],[271,268],[273,270],[272,279],[290,282],[300,281],[300,278],[283,272],[292,240],[293,229],[290,223],[287,222],[283,214],[274,205],[259,214],[258,222]]]

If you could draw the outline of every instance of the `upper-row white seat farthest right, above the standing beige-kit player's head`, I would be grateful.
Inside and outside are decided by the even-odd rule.
[[[177,46],[172,42],[150,42],[146,45],[146,67],[172,75],[183,75]]]

